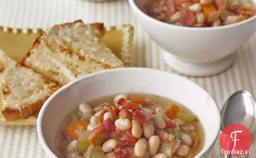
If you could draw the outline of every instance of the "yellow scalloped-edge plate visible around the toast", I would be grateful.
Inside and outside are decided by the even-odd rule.
[[[116,56],[124,62],[126,67],[131,66],[131,50],[134,29],[131,25],[105,27],[106,34],[102,43],[109,47]],[[20,61],[27,53],[37,35],[42,30],[17,30],[0,27],[0,49],[15,60]],[[2,92],[2,90],[0,91]],[[0,98],[2,100],[2,98]],[[0,102],[0,111],[2,111]],[[36,125],[37,119],[31,117],[13,122],[6,122],[0,115],[0,125]]]

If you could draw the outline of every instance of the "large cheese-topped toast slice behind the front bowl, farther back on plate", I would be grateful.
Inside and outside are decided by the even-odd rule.
[[[102,43],[103,24],[82,21],[55,25],[41,33],[22,64],[62,85],[104,69],[122,68],[123,63]]]

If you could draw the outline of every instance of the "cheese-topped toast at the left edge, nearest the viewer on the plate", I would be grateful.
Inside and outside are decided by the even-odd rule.
[[[46,99],[58,88],[43,75],[21,66],[0,50],[2,116],[6,121],[23,119],[39,112]]]

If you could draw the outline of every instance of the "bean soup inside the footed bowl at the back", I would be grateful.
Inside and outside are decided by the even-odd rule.
[[[251,0],[149,0],[142,10],[166,23],[186,27],[217,27],[255,15]]]

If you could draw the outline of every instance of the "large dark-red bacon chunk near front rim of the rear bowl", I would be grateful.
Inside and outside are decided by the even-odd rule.
[[[180,23],[184,26],[192,27],[196,24],[196,15],[191,10],[186,10],[183,12]]]

